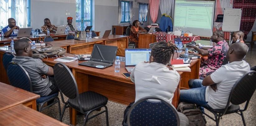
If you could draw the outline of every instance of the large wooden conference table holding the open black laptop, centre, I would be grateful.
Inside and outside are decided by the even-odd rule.
[[[73,54],[65,54],[65,56],[74,57]],[[42,59],[44,63],[50,66],[54,66],[54,59]],[[79,93],[85,91],[94,91],[105,95],[110,101],[128,105],[135,100],[135,85],[130,80],[122,75],[126,73],[125,64],[121,62],[120,72],[114,72],[114,65],[105,69],[97,69],[94,67],[86,67],[78,65],[84,61],[73,61],[70,63],[64,63],[67,65],[73,73],[75,80],[77,81]],[[179,102],[179,90],[189,89],[188,80],[199,78],[200,59],[194,59],[191,63],[191,72],[179,72],[181,79],[178,85],[172,104],[177,107]],[[69,109],[70,111],[70,123],[76,124],[76,111]],[[71,114],[72,113],[72,114]]]

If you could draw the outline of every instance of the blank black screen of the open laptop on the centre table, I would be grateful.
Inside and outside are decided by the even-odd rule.
[[[95,44],[92,50],[91,60],[105,63],[114,63],[117,47]]]

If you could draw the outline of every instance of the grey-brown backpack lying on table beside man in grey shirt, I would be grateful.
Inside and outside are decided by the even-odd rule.
[[[45,57],[61,56],[66,53],[62,47],[48,46],[43,48],[33,49],[32,58],[44,59]]]

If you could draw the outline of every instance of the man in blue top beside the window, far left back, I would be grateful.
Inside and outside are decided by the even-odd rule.
[[[20,27],[16,25],[14,18],[8,19],[8,25],[2,29],[5,37],[14,37],[18,35]]]

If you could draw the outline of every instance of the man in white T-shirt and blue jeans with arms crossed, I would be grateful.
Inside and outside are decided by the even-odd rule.
[[[233,85],[250,70],[249,64],[242,60],[246,53],[247,46],[244,43],[232,44],[226,56],[229,63],[222,65],[204,80],[194,80],[192,89],[181,90],[180,102],[224,109]]]

